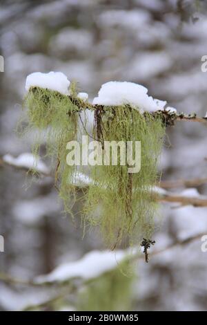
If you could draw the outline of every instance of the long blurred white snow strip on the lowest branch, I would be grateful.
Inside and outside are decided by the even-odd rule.
[[[93,279],[117,267],[127,256],[124,251],[93,250],[75,262],[63,263],[48,275],[37,277],[37,282],[66,281],[72,278]]]

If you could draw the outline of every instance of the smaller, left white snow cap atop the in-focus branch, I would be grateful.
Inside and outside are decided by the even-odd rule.
[[[50,71],[49,73],[34,72],[26,78],[26,91],[32,86],[59,91],[63,95],[69,95],[70,81],[61,72]]]

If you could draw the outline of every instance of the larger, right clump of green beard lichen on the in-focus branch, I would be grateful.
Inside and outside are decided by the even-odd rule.
[[[95,135],[102,147],[104,141],[141,142],[141,169],[130,174],[128,165],[120,165],[119,160],[117,166],[92,167],[94,185],[88,190],[85,216],[91,225],[99,225],[111,249],[121,243],[133,245],[152,236],[157,207],[152,190],[159,179],[157,163],[164,124],[159,115],[141,114],[128,105],[97,106],[95,118]]]

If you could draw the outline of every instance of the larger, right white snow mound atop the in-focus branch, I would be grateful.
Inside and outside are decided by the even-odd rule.
[[[144,86],[133,82],[106,82],[92,103],[106,106],[130,104],[141,112],[163,110],[166,105],[166,102],[148,96]]]

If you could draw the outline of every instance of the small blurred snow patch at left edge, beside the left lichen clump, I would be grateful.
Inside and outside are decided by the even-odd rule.
[[[17,158],[13,157],[10,154],[6,154],[3,156],[3,161],[12,166],[34,169],[43,174],[50,173],[50,170],[48,169],[45,163],[43,163],[39,158],[34,157],[34,155],[28,152],[20,154]]]

